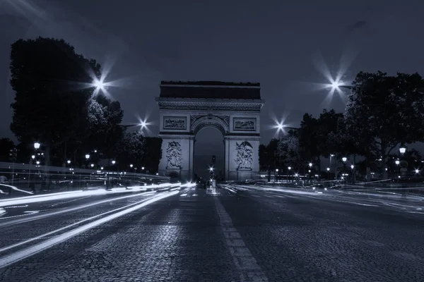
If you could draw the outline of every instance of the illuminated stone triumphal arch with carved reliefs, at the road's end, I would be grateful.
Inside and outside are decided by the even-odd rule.
[[[259,83],[162,81],[156,102],[163,139],[159,172],[194,176],[196,133],[214,127],[225,142],[225,180],[259,176],[259,115],[264,100]]]

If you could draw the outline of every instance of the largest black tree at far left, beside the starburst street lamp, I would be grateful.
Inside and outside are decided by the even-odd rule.
[[[16,92],[11,130],[21,142],[53,147],[78,140],[88,126],[88,101],[100,65],[76,54],[63,39],[19,39],[11,46],[11,87]]]

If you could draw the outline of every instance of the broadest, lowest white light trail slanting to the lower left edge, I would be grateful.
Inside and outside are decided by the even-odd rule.
[[[135,212],[137,209],[141,209],[142,207],[146,207],[148,204],[152,204],[154,202],[157,202],[158,200],[162,200],[162,199],[165,199],[166,197],[170,197],[172,195],[177,195],[177,194],[178,194],[177,191],[164,193],[164,195],[153,197],[150,200],[146,200],[146,202],[143,202],[141,204],[137,204],[133,207],[129,207],[129,208],[124,209],[124,210],[117,212],[115,214],[105,216],[102,219],[98,219],[96,221],[87,223],[86,225],[75,228],[71,231],[68,231],[68,232],[63,233],[61,235],[58,235],[57,237],[54,237],[52,239],[45,240],[44,242],[38,243],[37,245],[33,245],[32,247],[28,247],[28,248],[25,248],[23,250],[19,250],[18,252],[15,252],[11,255],[7,255],[6,257],[1,257],[0,258],[0,269],[5,267],[5,266],[8,266],[10,264],[13,264],[15,262],[18,262],[21,259],[25,259],[27,257],[35,255],[38,252],[41,252],[42,250],[46,250],[47,248],[52,247],[54,245],[57,245],[61,242],[64,242],[65,240],[69,240],[70,238],[72,238],[72,237],[74,237],[78,234],[81,234],[83,232],[86,232],[86,231],[90,230],[91,228],[95,228],[96,226],[100,226],[103,223],[106,223],[108,221],[112,221],[113,219],[117,219],[118,217],[124,216],[125,214]]]

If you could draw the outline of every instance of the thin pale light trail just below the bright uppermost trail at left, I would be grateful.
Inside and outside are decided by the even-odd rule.
[[[0,227],[24,223],[24,222],[28,222],[28,221],[35,221],[37,219],[45,219],[46,217],[54,216],[54,215],[57,215],[57,214],[62,214],[64,212],[73,212],[73,211],[76,211],[78,209],[86,209],[88,207],[93,207],[93,206],[98,205],[98,204],[105,204],[107,202],[114,202],[114,201],[117,201],[117,200],[123,200],[123,199],[130,198],[130,197],[140,197],[140,196],[151,195],[151,194],[155,194],[155,192],[142,192],[142,193],[137,193],[136,195],[128,195],[128,196],[122,196],[122,197],[117,197],[117,198],[113,198],[113,199],[102,200],[102,201],[99,201],[99,202],[94,202],[92,204],[84,204],[83,206],[80,206],[80,207],[73,207],[71,209],[63,209],[63,210],[60,210],[60,211],[57,211],[57,212],[50,212],[48,214],[40,214],[40,215],[33,216],[33,217],[30,217],[30,218],[15,219],[14,221],[8,221],[8,222],[0,223]],[[20,214],[18,216],[1,217],[0,220],[12,219],[12,218],[22,217],[22,216],[28,216],[28,214]]]

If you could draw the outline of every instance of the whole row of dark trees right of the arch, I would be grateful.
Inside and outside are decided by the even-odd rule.
[[[261,145],[261,169],[302,169],[312,162],[324,171],[321,159],[334,155],[338,160],[351,157],[364,171],[368,167],[384,175],[399,157],[397,147],[423,142],[424,80],[418,73],[360,72],[349,88],[344,113],[305,114],[300,128]],[[357,163],[358,156],[364,161]],[[416,165],[420,154],[408,149],[403,158]]]

